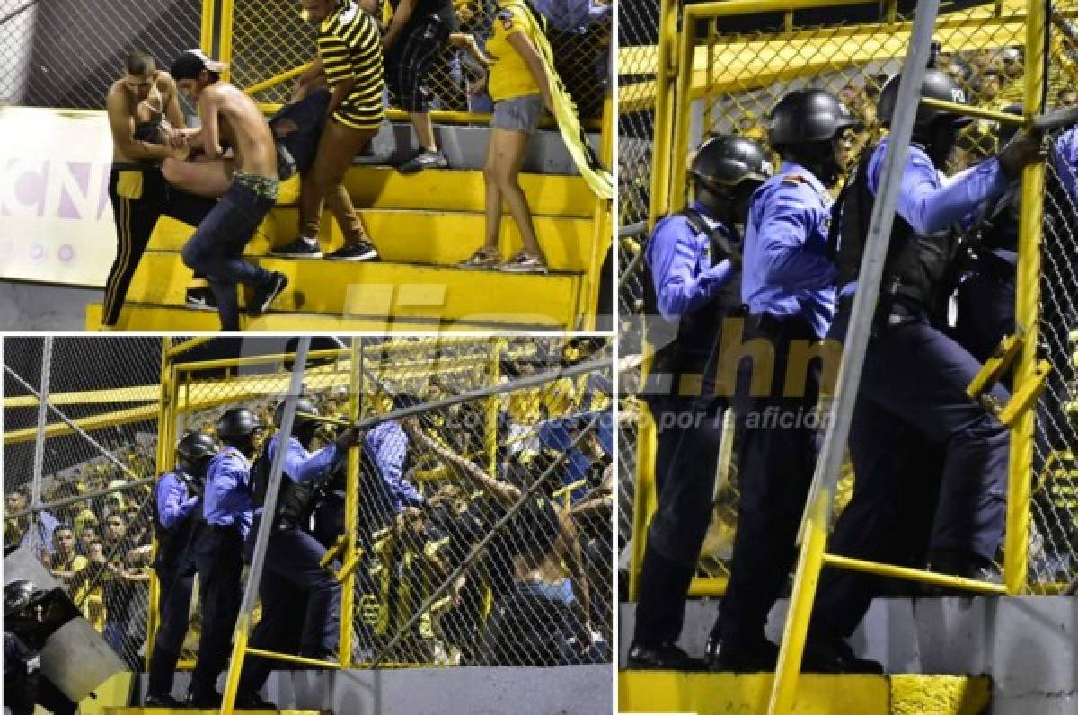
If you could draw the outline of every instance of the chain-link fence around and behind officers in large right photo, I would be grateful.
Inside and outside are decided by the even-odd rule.
[[[1023,98],[1025,79],[1026,5],[1023,1],[956,2],[948,3],[936,26],[934,40],[939,43],[935,54],[936,66],[950,73],[964,88],[970,104],[990,110],[1004,110]],[[681,32],[668,47],[678,67],[673,80],[678,96],[673,129],[667,139],[673,145],[673,159],[668,180],[669,200],[658,211],[679,208],[687,200],[686,171],[691,151],[704,139],[717,134],[738,134],[766,143],[766,116],[775,102],[787,92],[803,87],[826,88],[841,97],[858,115],[863,128],[854,137],[846,155],[853,162],[868,147],[874,146],[885,130],[876,118],[875,105],[884,81],[900,69],[909,43],[911,22],[907,13],[913,3],[867,2],[863,4],[817,8],[798,11],[775,11],[765,14],[713,17],[707,20],[686,23],[681,32],[689,33],[686,52],[678,55],[677,42]],[[1074,91],[1076,38],[1073,2],[1052,3],[1051,41],[1049,42],[1048,107],[1069,106],[1078,97]],[[622,24],[631,22],[641,36],[639,47],[622,43],[621,59],[639,61],[641,68],[655,71],[662,50],[648,45],[647,28],[659,24],[659,13],[635,17],[623,9]],[[681,17],[683,6],[678,9]],[[652,30],[655,31],[655,30]],[[657,31],[655,31],[657,32]],[[658,32],[657,32],[658,33]],[[650,64],[649,64],[650,63]],[[625,86],[636,88],[641,96],[655,96],[647,83],[651,75],[642,69],[638,74],[630,66],[620,66],[619,75]],[[640,87],[647,86],[645,92]],[[652,94],[648,94],[652,93]],[[630,94],[628,96],[633,96]],[[624,102],[624,96],[622,101]],[[621,132],[634,126],[622,115]],[[644,124],[641,123],[641,126]],[[1059,137],[1056,137],[1058,139]],[[623,147],[625,142],[623,140]],[[630,143],[630,147],[635,147]],[[644,146],[650,147],[647,138]],[[975,120],[959,136],[956,150],[946,167],[948,174],[960,171],[998,150],[998,129],[991,120]],[[1076,561],[1076,528],[1078,500],[1073,489],[1078,484],[1078,467],[1072,450],[1075,444],[1075,368],[1072,332],[1075,329],[1074,286],[1076,278],[1074,225],[1075,200],[1066,190],[1066,178],[1053,177],[1064,173],[1075,161],[1063,159],[1065,148],[1058,149],[1060,159],[1049,167],[1046,193],[1046,231],[1042,246],[1040,332],[1042,353],[1053,366],[1049,387],[1038,407],[1036,458],[1034,464],[1033,536],[1029,559],[1029,588],[1047,592],[1063,588],[1074,580]],[[628,154],[632,157],[632,154]],[[632,220],[648,218],[648,198],[644,192],[650,187],[648,177],[653,161],[644,160],[642,169],[630,165],[623,150],[621,195],[623,209],[633,207]],[[777,164],[776,164],[777,165]],[[1073,170],[1073,169],[1069,169]],[[641,177],[633,184],[633,177]],[[661,179],[660,179],[661,180]],[[1055,187],[1055,188],[1053,188]],[[665,189],[664,189],[665,190]],[[657,210],[657,209],[652,209]],[[624,214],[624,212],[623,212]],[[654,218],[654,217],[652,217]],[[623,225],[628,223],[623,215]],[[639,244],[644,244],[640,240]],[[634,243],[633,253],[640,248]],[[642,301],[639,277],[635,271],[626,275],[625,267],[636,269],[633,255],[626,252],[622,260],[620,277],[622,361],[625,367],[642,361],[639,345],[642,328]],[[626,319],[632,316],[634,319]],[[1069,335],[1069,338],[1068,338]],[[640,357],[634,357],[640,355]],[[639,385],[635,374],[623,383],[630,389],[622,393],[623,422],[630,420],[636,407],[631,396],[632,387]],[[636,411],[638,412],[638,410]],[[637,423],[628,423],[636,425]],[[638,425],[637,425],[638,426]],[[647,443],[632,442],[634,434],[622,429],[622,492],[628,494],[635,482],[630,459],[637,454],[648,456]],[[641,436],[642,442],[648,437]],[[632,446],[631,446],[632,445]],[[735,467],[735,465],[734,465]],[[852,470],[840,483],[838,508],[848,499],[853,483]],[[646,487],[647,489],[647,487]],[[635,495],[635,504],[650,508],[650,495]],[[714,579],[711,589],[695,592],[721,591],[725,575],[725,558],[736,523],[737,481],[736,469],[730,471],[730,481],[716,495],[715,521],[704,546],[699,575]],[[633,499],[623,499],[630,504]],[[632,517],[623,514],[620,523],[628,525]],[[638,519],[634,535],[642,535],[646,519]],[[636,549],[634,549],[636,551]],[[642,551],[640,551],[642,553]],[[628,565],[627,554],[623,563]]]

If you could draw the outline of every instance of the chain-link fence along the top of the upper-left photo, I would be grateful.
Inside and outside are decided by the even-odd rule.
[[[365,3],[388,26],[389,3]],[[484,46],[499,12],[495,0],[455,0],[454,31],[430,77],[431,106],[454,121],[489,121],[493,104],[478,86]],[[580,118],[596,126],[609,94],[612,2],[553,0],[534,8],[547,18],[555,69]],[[0,104],[101,109],[128,51],[142,49],[167,68],[203,45],[231,65],[231,81],[259,88],[267,106],[288,100],[292,78],[315,56],[315,29],[295,0],[0,0]],[[471,91],[478,92],[473,94]],[[390,105],[397,107],[396,98]],[[455,116],[454,116],[455,114]]]

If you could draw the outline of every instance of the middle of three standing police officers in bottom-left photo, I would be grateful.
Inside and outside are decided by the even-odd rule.
[[[244,539],[254,517],[250,459],[261,429],[258,416],[247,408],[227,410],[217,421],[217,435],[224,449],[210,460],[206,471],[206,528],[195,552],[203,627],[188,691],[189,706],[221,705],[217,678],[229,659],[239,615]]]

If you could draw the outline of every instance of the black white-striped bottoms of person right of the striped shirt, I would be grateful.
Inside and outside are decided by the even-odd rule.
[[[396,104],[406,112],[430,111],[433,93],[427,84],[434,60],[450,40],[450,27],[429,15],[406,28],[386,53],[386,83]]]

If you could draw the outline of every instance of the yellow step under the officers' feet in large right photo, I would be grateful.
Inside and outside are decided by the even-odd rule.
[[[765,713],[770,673],[619,671],[618,710]],[[946,675],[814,675],[798,680],[798,715],[976,715],[991,700],[987,677]]]

